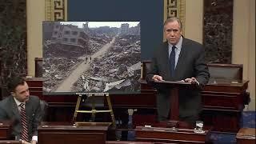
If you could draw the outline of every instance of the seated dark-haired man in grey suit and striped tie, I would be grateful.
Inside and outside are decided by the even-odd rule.
[[[23,78],[12,78],[8,89],[11,95],[0,102],[0,120],[13,122],[12,134],[15,139],[22,139],[23,143],[36,143],[37,128],[42,119],[39,98],[30,95],[29,86]],[[25,113],[26,116],[22,116]]]

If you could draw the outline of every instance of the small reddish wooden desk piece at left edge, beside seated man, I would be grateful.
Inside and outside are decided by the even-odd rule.
[[[10,122],[0,122],[0,140],[11,138],[11,124]]]

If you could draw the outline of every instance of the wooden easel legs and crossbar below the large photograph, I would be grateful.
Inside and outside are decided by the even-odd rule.
[[[83,95],[86,95],[87,97],[92,97],[91,110],[79,110],[79,106],[80,106]],[[109,109],[108,110],[96,110],[95,109],[95,102],[94,102],[94,97],[95,96],[105,97],[106,101],[107,101],[107,104],[109,106]],[[90,113],[91,118],[92,118],[92,122],[76,122],[78,113]],[[112,118],[112,122],[94,122],[96,113],[110,113],[111,118]],[[107,94],[107,93],[78,93],[78,101],[77,101],[77,104],[76,104],[76,107],[75,107],[75,110],[74,110],[73,122],[75,123],[75,125],[78,125],[78,126],[84,126],[84,125],[87,125],[88,123],[94,123],[94,125],[97,125],[97,123],[98,124],[100,123],[101,125],[110,126],[111,123],[112,123],[113,126],[115,127],[116,123],[115,123],[115,118],[114,118],[114,112],[113,112],[112,105],[111,105],[111,102],[110,102],[110,94]]]

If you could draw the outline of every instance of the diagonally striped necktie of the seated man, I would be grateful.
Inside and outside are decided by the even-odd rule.
[[[22,118],[22,140],[29,142],[29,135],[28,135],[28,126],[27,126],[27,119],[26,119],[26,110],[24,108],[24,103],[21,103],[21,118]]]

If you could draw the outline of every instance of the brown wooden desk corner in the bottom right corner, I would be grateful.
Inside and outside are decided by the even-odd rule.
[[[255,144],[255,130],[253,128],[242,128],[236,135],[238,144]]]

